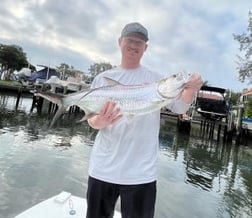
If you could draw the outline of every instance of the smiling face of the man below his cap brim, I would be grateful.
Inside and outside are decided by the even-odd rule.
[[[122,57],[140,61],[143,53],[147,49],[146,42],[138,36],[126,36],[119,39]]]

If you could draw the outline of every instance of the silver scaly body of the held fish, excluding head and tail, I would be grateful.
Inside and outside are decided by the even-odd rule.
[[[116,102],[124,114],[144,114],[160,109],[164,98],[157,93],[157,83],[136,86],[105,86],[87,94],[77,103],[86,111],[98,113],[108,100]]]

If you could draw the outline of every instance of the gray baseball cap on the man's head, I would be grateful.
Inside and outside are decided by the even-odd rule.
[[[126,24],[122,30],[121,37],[130,36],[133,34],[139,34],[145,42],[149,40],[147,29],[140,23],[135,22]]]

